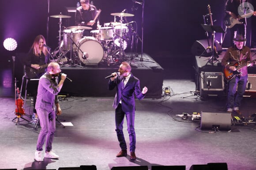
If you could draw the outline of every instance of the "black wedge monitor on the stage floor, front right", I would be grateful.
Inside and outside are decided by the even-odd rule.
[[[202,112],[202,130],[231,130],[231,113],[227,112]]]

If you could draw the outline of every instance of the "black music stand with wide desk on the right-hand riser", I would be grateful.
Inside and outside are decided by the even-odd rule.
[[[217,25],[206,25],[206,24],[201,24],[201,26],[203,27],[203,29],[207,32],[211,32],[212,33],[212,55],[211,58],[209,58],[209,60],[207,61],[207,63],[205,65],[208,64],[208,62],[211,63],[211,65],[213,65],[213,61],[218,59],[216,58],[216,56],[214,55],[214,43],[215,43],[215,33],[226,33],[224,31],[224,29],[221,26],[217,26]],[[219,61],[218,61],[219,62]]]

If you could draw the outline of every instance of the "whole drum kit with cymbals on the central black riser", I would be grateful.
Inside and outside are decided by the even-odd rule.
[[[59,46],[53,53],[56,54],[57,58],[62,58],[70,52],[71,64],[80,67],[98,65],[100,62],[107,65],[116,65],[122,61],[128,61],[130,58],[125,55],[124,50],[127,48],[130,39],[128,34],[129,23],[123,23],[123,17],[134,15],[123,12],[112,13],[111,15],[115,17],[114,22],[105,23],[104,27],[91,30],[91,36],[84,37],[83,30],[91,29],[90,27],[69,26],[61,30],[62,18],[70,18],[71,16],[62,15],[61,13],[50,16],[60,20]],[[116,22],[116,16],[120,17],[120,22]],[[61,40],[61,37],[63,37],[63,40]]]

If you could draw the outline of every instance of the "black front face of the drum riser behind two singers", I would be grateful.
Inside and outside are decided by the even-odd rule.
[[[108,68],[61,68],[62,72],[72,79],[65,81],[60,94],[75,96],[109,97],[115,95],[115,90],[108,90],[108,81],[105,79],[117,69]],[[147,98],[161,98],[163,71],[153,69],[132,69],[132,74],[139,78],[141,89],[148,88]]]

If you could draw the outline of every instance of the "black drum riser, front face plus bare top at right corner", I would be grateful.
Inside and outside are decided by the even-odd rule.
[[[162,98],[163,68],[148,54],[143,53],[133,58],[130,62],[132,74],[139,78],[141,89],[148,88],[145,98]],[[61,71],[67,74],[72,82],[66,80],[60,94],[69,96],[110,97],[116,90],[108,90],[108,81],[105,79],[112,72],[118,72],[119,65],[84,68],[64,66]]]

